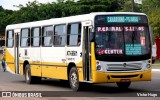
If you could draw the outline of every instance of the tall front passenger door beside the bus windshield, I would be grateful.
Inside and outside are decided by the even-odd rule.
[[[83,73],[84,80],[91,81],[91,43],[90,43],[90,32],[91,28],[89,26],[83,27]]]

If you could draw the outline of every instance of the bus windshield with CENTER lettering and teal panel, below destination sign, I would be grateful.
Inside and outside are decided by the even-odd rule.
[[[139,56],[150,52],[147,26],[97,26],[97,55]]]

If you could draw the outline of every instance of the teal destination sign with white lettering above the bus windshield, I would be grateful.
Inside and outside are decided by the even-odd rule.
[[[139,16],[107,16],[107,23],[138,23]]]

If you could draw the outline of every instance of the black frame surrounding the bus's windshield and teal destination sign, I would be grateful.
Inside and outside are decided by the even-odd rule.
[[[123,15],[132,16],[131,14],[113,14],[113,16],[121,16],[121,15],[122,16]],[[96,16],[99,16],[99,15],[96,15]],[[145,23],[105,23],[105,24],[103,24],[103,23],[102,24],[100,24],[100,23],[96,24],[96,16],[94,17],[94,26],[95,27],[97,27],[97,26],[115,26],[115,25],[124,27],[124,26],[127,26],[127,25],[130,25],[130,26],[137,26],[137,25],[140,26],[141,25],[141,26],[146,26],[147,29],[148,29],[148,32],[149,32],[149,21],[148,21],[149,19],[148,19],[148,17],[146,15],[138,15],[138,14],[134,14],[133,15],[133,16],[145,16],[147,18],[147,22],[145,22]],[[112,16],[112,14],[111,15],[102,15],[102,16]],[[96,28],[94,28],[94,32],[96,32]],[[149,32],[149,36],[148,37],[149,37],[149,39],[151,38],[150,32]],[[94,35],[94,41],[95,41],[95,35]],[[149,46],[151,47],[151,39],[149,41]],[[95,48],[96,48],[96,45],[95,45]],[[128,56],[128,57],[122,59],[121,62],[127,61],[126,59],[129,59],[129,61],[135,61],[135,58],[137,58],[137,57],[138,57],[137,60],[148,59],[151,56],[151,49],[152,48],[150,48],[150,52],[148,54],[141,55],[141,57],[139,57],[139,56],[134,56],[134,57],[133,56]],[[114,58],[115,56],[110,55],[108,57],[111,57],[111,58],[106,60],[106,59],[103,59],[104,57],[106,57],[106,55],[99,56],[95,52],[95,57],[96,57],[96,59],[102,60],[102,61],[119,61],[118,59],[121,59],[121,57],[124,57],[124,56],[121,56],[121,57],[117,56],[117,59],[115,59]],[[132,58],[130,58],[130,57],[132,57]]]

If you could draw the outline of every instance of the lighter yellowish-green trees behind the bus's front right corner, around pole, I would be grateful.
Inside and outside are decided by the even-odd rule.
[[[131,0],[123,0],[123,9],[131,11]],[[142,0],[142,5],[134,4],[135,12],[143,12],[148,15],[150,25],[155,36],[160,36],[160,0]]]

